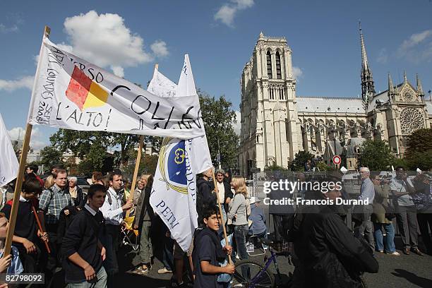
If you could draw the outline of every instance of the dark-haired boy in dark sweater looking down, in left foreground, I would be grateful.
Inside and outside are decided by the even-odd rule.
[[[102,266],[105,248],[97,235],[104,225],[99,208],[107,196],[101,184],[88,188],[88,204],[73,218],[63,238],[61,252],[68,287],[107,287],[107,272]]]

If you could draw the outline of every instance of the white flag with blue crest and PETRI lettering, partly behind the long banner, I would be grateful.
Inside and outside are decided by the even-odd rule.
[[[169,83],[164,86],[163,83]],[[155,69],[149,88],[155,93],[185,97],[197,95],[188,55],[185,56],[179,85]],[[167,92],[168,91],[168,92]],[[156,94],[162,96],[160,94]],[[173,96],[171,96],[173,97]],[[198,227],[196,174],[212,167],[207,138],[189,140],[164,138],[152,186],[150,205],[169,228],[172,238],[187,251]]]

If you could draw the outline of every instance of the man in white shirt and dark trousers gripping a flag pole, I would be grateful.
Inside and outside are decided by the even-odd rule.
[[[108,287],[114,284],[114,274],[119,272],[116,251],[119,246],[120,227],[123,222],[123,212],[133,206],[131,200],[121,205],[120,191],[123,188],[123,176],[121,171],[116,170],[109,174],[109,189],[105,197],[104,205],[100,208],[105,219],[105,227],[100,237],[102,244],[107,250],[107,258],[104,261],[104,268],[108,275]]]

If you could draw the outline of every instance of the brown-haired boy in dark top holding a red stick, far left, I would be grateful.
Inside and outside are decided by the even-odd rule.
[[[18,204],[18,215],[13,233],[13,246],[18,249],[21,263],[23,263],[24,272],[40,272],[37,265],[41,256],[42,243],[39,238],[47,240],[46,232],[41,232],[37,228],[35,218],[35,208],[38,207],[37,195],[42,193],[40,182],[34,177],[28,177],[23,183],[20,194],[20,203]],[[4,206],[2,212],[9,219],[11,215],[13,200],[9,200]]]

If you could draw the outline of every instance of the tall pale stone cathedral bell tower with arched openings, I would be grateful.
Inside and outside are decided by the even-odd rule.
[[[288,167],[298,152],[296,136],[296,80],[292,50],[284,37],[260,32],[241,77],[241,171],[248,162],[261,171]]]

